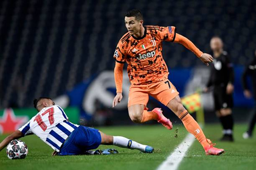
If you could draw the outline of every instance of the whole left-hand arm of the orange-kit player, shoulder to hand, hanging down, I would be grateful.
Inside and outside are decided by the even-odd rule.
[[[124,44],[122,39],[119,41],[117,48],[114,51],[115,67],[114,67],[114,81],[115,87],[117,87],[117,96],[114,97],[113,107],[122,100],[122,84],[123,84],[123,66],[126,61],[126,54],[124,50]]]

